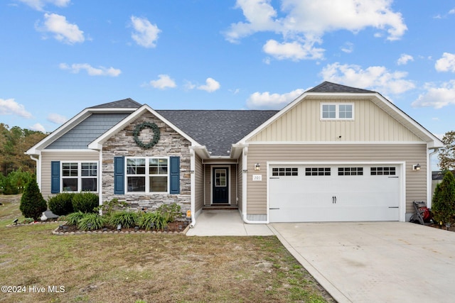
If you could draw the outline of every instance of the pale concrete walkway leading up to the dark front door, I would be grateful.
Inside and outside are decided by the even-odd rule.
[[[186,236],[274,236],[267,224],[245,224],[237,210],[203,211]]]

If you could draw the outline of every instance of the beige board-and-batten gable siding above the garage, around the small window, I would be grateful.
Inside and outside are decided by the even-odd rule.
[[[353,121],[321,120],[321,103],[354,104]],[[422,139],[369,100],[305,99],[249,140],[270,141],[420,142]]]

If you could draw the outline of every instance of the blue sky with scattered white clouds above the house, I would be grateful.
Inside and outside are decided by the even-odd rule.
[[[455,1],[4,0],[0,123],[90,106],[281,109],[331,81],[454,131]]]

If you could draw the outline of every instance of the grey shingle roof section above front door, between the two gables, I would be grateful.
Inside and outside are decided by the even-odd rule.
[[[278,111],[157,110],[211,155],[228,156],[240,141]]]

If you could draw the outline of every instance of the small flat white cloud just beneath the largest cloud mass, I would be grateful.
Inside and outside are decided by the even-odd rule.
[[[278,60],[290,59],[298,61],[302,59],[322,59],[323,49],[314,48],[314,43],[301,44],[297,41],[279,43],[276,40],[268,40],[262,47],[264,53],[272,55]]]

